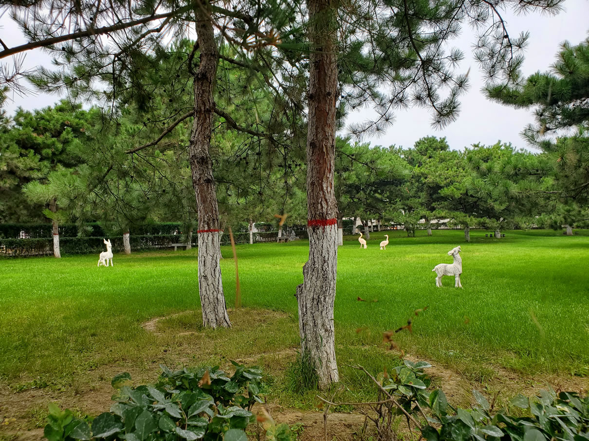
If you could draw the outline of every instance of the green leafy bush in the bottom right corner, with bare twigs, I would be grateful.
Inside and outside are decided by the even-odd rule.
[[[382,402],[373,407],[376,415],[369,418],[376,423],[380,439],[395,439],[394,421],[404,417],[409,426],[419,426],[427,441],[589,440],[587,396],[554,390],[541,390],[539,396],[529,399],[518,395],[511,404],[528,413],[514,416],[508,409],[495,409],[494,403],[473,390],[478,406],[466,410],[449,405],[441,389],[428,392],[431,380],[423,369],[429,367],[427,362],[404,360],[391,373],[373,378]]]

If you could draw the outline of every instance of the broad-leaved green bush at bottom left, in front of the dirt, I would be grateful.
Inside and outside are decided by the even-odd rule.
[[[256,421],[251,412],[259,397],[262,370],[236,362],[232,376],[219,366],[172,372],[161,366],[158,382],[133,387],[131,376],[112,379],[117,392],[110,412],[77,419],[70,410],[49,406],[45,437],[49,441],[71,440],[197,440],[247,441],[244,429]],[[289,441],[284,427],[269,428],[276,441]]]

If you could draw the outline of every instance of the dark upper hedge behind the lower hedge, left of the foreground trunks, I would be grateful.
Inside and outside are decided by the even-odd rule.
[[[147,225],[135,225],[130,228],[131,234],[135,236],[145,235],[173,235],[180,234],[180,222],[161,222],[150,223]],[[59,236],[64,238],[75,238],[78,236],[97,238],[113,236],[117,232],[112,228],[101,225],[98,222],[89,222],[84,224],[84,228],[80,230],[75,223],[64,223],[59,225]],[[0,223],[0,239],[38,239],[51,238],[53,236],[53,229],[51,223]]]

